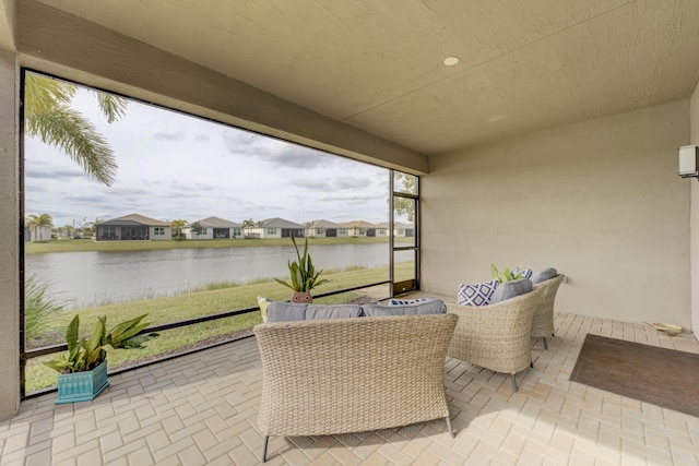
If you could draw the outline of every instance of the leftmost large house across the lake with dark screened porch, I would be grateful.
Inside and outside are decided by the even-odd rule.
[[[95,225],[95,231],[97,241],[157,241],[173,239],[170,224],[139,214],[99,222]]]

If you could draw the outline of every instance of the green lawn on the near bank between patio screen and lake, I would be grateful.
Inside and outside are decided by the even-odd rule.
[[[235,241],[235,240],[234,240]],[[245,240],[240,240],[242,242]],[[193,241],[192,241],[193,242]],[[402,273],[412,270],[412,263],[399,264],[396,268]],[[323,277],[331,282],[313,290],[320,295],[332,290],[346,289],[360,284],[377,283],[388,279],[388,266],[377,268],[358,268],[351,271],[328,271]],[[214,287],[216,288],[216,287]],[[146,321],[152,325],[176,322],[202,315],[221,313],[235,309],[257,306],[257,297],[263,296],[273,300],[286,300],[291,290],[274,282],[253,283],[248,285],[233,285],[227,288],[216,288],[179,295],[176,297],[145,299],[127,303],[97,306],[78,311],[61,311],[51,315],[48,335],[58,344],[63,342],[64,328],[75,313],[80,314],[81,328],[90,330],[97,315],[107,315],[107,327],[141,314],[147,313]],[[362,291],[318,298],[316,302],[347,302],[363,296]],[[386,296],[388,297],[388,288]],[[211,339],[233,335],[251,328],[261,322],[260,313],[252,312],[234,318],[221,319],[197,325],[163,332],[159,338],[149,342],[145,349],[120,350],[108,358],[110,369],[134,365],[158,356],[177,351],[180,348],[194,347]],[[49,338],[50,338],[49,336]],[[58,373],[40,362],[57,355],[28,360],[26,367],[26,392],[35,392],[57,383]]]

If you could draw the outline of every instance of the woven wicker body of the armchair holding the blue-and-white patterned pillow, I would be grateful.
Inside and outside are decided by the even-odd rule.
[[[543,287],[491,306],[448,303],[447,312],[459,315],[459,322],[447,354],[474,366],[509,373],[512,390],[517,392],[514,374],[532,366],[532,321],[536,309],[543,306]]]

